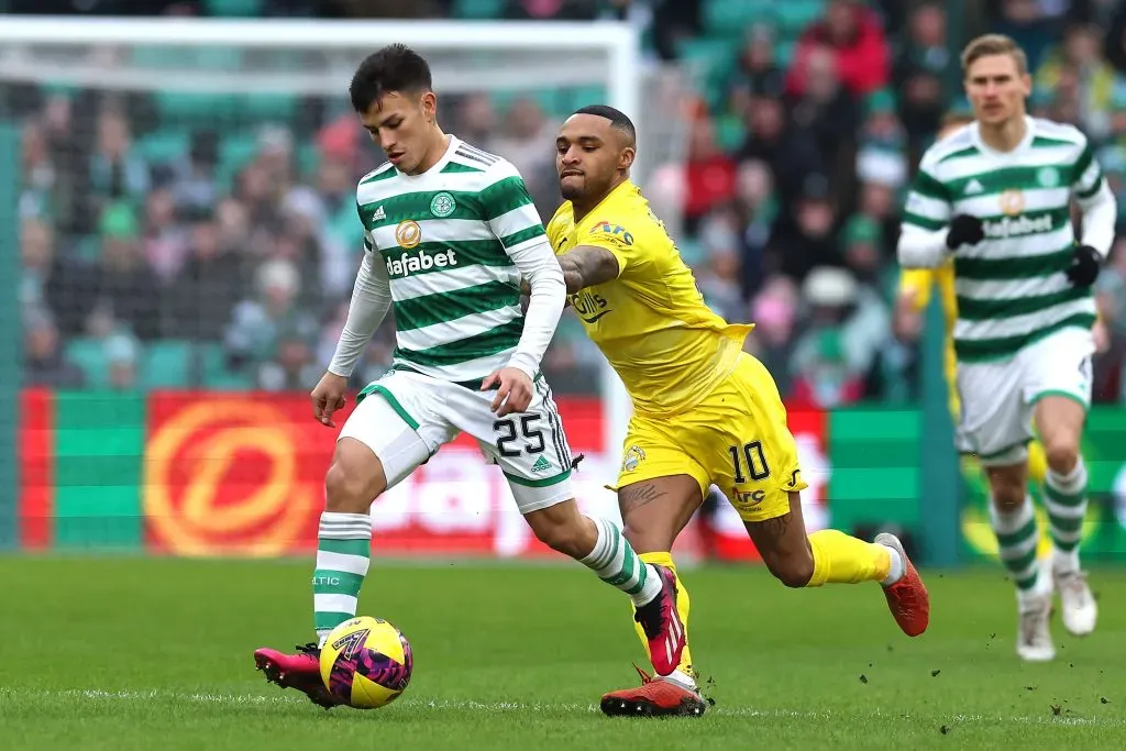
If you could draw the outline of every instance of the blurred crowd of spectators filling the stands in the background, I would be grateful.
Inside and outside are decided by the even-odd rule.
[[[718,5],[732,2],[757,0],[485,5],[503,18],[624,18],[643,27],[654,64],[669,64],[689,62],[709,38]],[[19,12],[29,3],[7,5]],[[68,12],[72,3],[30,5]],[[223,15],[216,8],[241,6],[263,16],[320,17],[464,17],[466,8],[482,7],[481,0],[82,5],[91,12]],[[706,299],[731,321],[757,324],[748,349],[784,396],[821,406],[914,402],[921,320],[896,306],[895,241],[920,154],[944,114],[967,108],[951,29],[960,29],[959,39],[985,30],[1013,36],[1028,52],[1033,113],[1082,128],[1121,194],[1126,5],[963,0],[957,17],[944,2],[784,5],[812,12],[796,28],[765,14],[738,29],[730,56],[712,53],[690,110],[687,160],[658,166],[644,188],[658,203],[677,203],[678,244]],[[143,95],[11,86],[0,92],[23,137],[19,294],[28,383],[263,390],[315,383],[342,327],[361,250],[355,184],[381,161],[354,116],[303,107],[285,126],[260,124],[245,159],[230,170],[218,126],[193,131],[178,153],[141,150],[159,127]],[[551,149],[560,114],[530,97],[502,105],[481,95],[444,98],[440,120],[510,159],[546,222],[560,200]],[[1126,229],[1126,212],[1121,218]],[[1126,251],[1116,247],[1098,284],[1096,399],[1126,402]],[[355,385],[378,376],[392,348],[385,325]],[[599,360],[566,314],[545,361],[555,388],[591,390]]]

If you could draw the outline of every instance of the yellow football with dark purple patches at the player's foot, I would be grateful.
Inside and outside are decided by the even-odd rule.
[[[321,679],[339,701],[376,709],[411,680],[411,645],[383,618],[360,616],[333,628],[321,647]]]

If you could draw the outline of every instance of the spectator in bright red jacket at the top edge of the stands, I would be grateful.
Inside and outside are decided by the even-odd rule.
[[[825,16],[802,33],[786,79],[790,95],[805,91],[808,55],[829,46],[837,56],[841,83],[856,97],[882,88],[888,80],[891,52],[879,17],[857,0],[830,0]]]

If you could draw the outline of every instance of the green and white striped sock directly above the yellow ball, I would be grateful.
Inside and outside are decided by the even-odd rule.
[[[356,616],[370,554],[370,515],[321,515],[313,572],[313,624],[321,644],[330,631]]]

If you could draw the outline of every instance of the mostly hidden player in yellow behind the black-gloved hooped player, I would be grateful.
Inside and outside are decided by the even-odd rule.
[[[950,113],[942,118],[942,125],[936,140],[941,141],[973,122],[972,115]],[[962,406],[957,386],[958,358],[954,354],[954,324],[958,320],[958,303],[954,292],[954,261],[948,260],[933,269],[902,269],[900,271],[896,314],[922,314],[930,304],[932,290],[941,296],[942,316],[946,323],[942,369],[949,387],[950,415],[957,424],[962,421]],[[972,461],[972,455],[966,455],[964,461]],[[1044,446],[1039,440],[1034,439],[1028,445],[1028,476],[1039,486],[1044,484],[1047,471],[1048,464],[1044,456]]]

